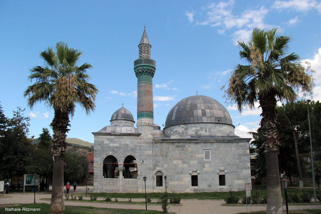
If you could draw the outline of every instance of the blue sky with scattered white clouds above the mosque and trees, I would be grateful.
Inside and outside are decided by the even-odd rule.
[[[93,65],[90,81],[100,90],[95,112],[86,116],[76,108],[68,137],[93,142],[91,132],[109,125],[121,103],[136,118],[133,62],[145,24],[156,61],[154,122],[164,124],[170,108],[197,90],[226,106],[236,134],[248,137],[258,128],[260,109],[240,114],[222,98],[221,86],[233,67],[244,63],[236,41],[248,40],[254,27],[278,27],[280,34],[291,36],[289,52],[317,71],[313,98],[320,100],[320,18],[321,2],[315,0],[1,1],[0,101],[7,117],[17,106],[26,108],[30,136],[50,128],[53,110],[44,103],[30,109],[22,94],[30,85],[29,69],[44,65],[39,52],[67,42],[83,52],[79,64]]]

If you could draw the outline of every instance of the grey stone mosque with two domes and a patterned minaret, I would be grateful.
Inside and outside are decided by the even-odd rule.
[[[234,134],[227,109],[195,95],[169,111],[165,127],[154,124],[156,62],[144,29],[134,61],[137,128],[123,106],[94,135],[94,192],[240,191],[251,182],[249,138]],[[146,180],[144,182],[144,180]]]

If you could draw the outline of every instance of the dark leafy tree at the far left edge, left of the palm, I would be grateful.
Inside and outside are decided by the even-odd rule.
[[[17,162],[26,163],[30,155],[31,140],[27,138],[30,118],[23,116],[23,111],[20,107],[13,111],[13,117],[7,122],[7,130],[4,130],[4,137],[1,137],[4,148],[0,158],[1,178],[17,175]]]

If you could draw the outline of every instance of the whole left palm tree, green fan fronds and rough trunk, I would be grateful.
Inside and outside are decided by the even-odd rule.
[[[28,105],[32,108],[37,102],[45,102],[55,112],[50,126],[53,130],[53,182],[50,212],[64,212],[64,164],[66,132],[70,126],[69,116],[74,115],[76,104],[81,105],[87,114],[95,109],[95,96],[98,89],[88,83],[86,70],[88,63],[76,65],[82,52],[58,42],[55,51],[48,47],[40,53],[46,66],[30,69],[29,79],[35,81],[24,92]]]

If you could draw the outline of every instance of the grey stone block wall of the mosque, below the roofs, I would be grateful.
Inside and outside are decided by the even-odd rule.
[[[216,140],[152,140],[137,136],[95,135],[94,140],[94,191],[108,192],[103,188],[103,160],[108,155],[117,158],[123,164],[128,155],[137,160],[138,188],[143,192],[143,176],[147,177],[147,192],[164,192],[156,187],[156,172],[167,175],[167,189],[175,192],[207,192],[244,190],[245,183],[251,181],[249,139]],[[211,151],[211,160],[204,160],[204,150]],[[226,185],[219,186],[218,174],[226,176]],[[191,174],[198,174],[198,186],[191,186]],[[118,190],[119,191],[119,190]],[[123,190],[126,192],[126,190]],[[130,190],[133,192],[133,189]]]

